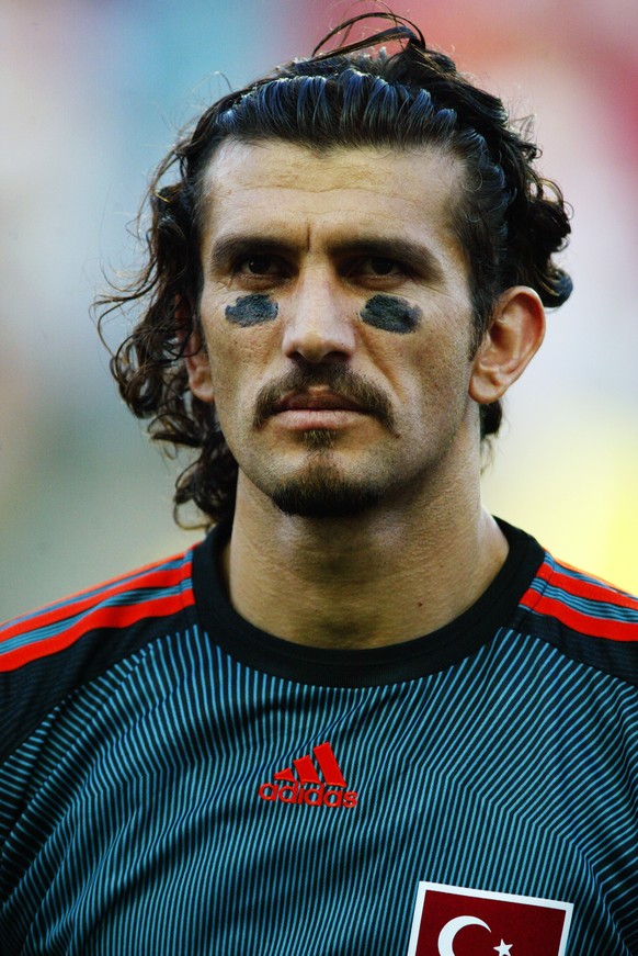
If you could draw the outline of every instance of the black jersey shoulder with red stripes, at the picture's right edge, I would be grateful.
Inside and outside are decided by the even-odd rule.
[[[526,631],[638,685],[638,598],[545,553],[520,603]]]

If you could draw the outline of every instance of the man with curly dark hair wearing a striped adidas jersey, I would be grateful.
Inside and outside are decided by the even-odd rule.
[[[215,528],[4,629],[7,954],[638,952],[638,601],[479,497],[562,198],[387,19],[151,184],[113,370]]]

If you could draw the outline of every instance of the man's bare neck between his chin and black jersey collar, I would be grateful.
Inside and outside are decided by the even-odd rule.
[[[508,552],[476,487],[348,519],[278,511],[240,476],[223,570],[237,611],[269,633],[321,648],[411,640],[480,597]]]

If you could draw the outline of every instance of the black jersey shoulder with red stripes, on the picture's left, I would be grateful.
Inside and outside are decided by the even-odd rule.
[[[186,628],[193,549],[70,595],[0,626],[7,745],[70,693],[157,637]]]

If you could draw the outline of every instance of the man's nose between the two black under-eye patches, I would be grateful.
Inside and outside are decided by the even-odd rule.
[[[283,351],[286,358],[307,362],[344,362],[352,358],[356,333],[352,303],[323,270],[299,282],[284,317]]]

